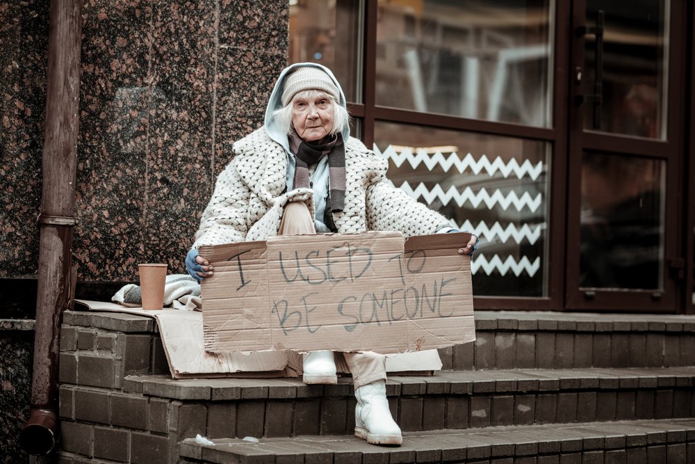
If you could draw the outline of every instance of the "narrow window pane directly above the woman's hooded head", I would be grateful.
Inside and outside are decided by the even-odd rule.
[[[320,63],[338,78],[348,102],[361,102],[361,0],[290,3],[289,62]]]

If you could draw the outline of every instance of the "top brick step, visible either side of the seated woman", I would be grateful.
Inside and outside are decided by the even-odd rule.
[[[695,365],[695,316],[476,312],[477,340],[440,349],[443,370],[584,369]],[[60,381],[122,387],[129,374],[167,374],[148,317],[67,311]]]

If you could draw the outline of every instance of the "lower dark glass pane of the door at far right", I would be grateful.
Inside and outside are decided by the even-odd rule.
[[[584,153],[580,287],[662,287],[663,192],[663,161]]]

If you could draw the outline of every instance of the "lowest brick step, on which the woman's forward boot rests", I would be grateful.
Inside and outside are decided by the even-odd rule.
[[[634,420],[404,433],[401,447],[352,436],[184,440],[183,462],[582,464],[695,462],[695,420]]]

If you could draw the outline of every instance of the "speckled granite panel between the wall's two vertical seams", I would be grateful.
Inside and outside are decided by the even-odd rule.
[[[216,2],[158,1],[153,10],[147,198],[141,259],[182,273],[209,198]]]

